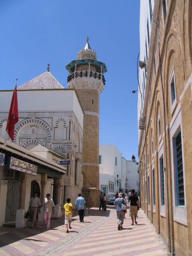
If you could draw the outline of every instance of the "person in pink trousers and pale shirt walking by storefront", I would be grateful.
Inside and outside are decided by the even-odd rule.
[[[55,205],[53,200],[50,198],[50,194],[46,194],[46,198],[44,199],[42,203],[43,207],[43,220],[46,226],[46,229],[50,228],[50,218],[51,218],[51,213],[54,214],[55,210]]]

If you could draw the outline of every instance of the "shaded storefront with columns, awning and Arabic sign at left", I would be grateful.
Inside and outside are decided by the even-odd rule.
[[[62,216],[65,173],[65,167],[0,138],[0,226],[10,222],[15,222],[16,227],[24,226],[34,192],[41,202],[49,192],[56,204],[54,217]]]

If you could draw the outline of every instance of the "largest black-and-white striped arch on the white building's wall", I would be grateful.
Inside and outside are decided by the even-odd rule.
[[[51,128],[50,126],[43,120],[39,119],[39,118],[26,118],[24,120],[22,120],[15,128],[15,132],[14,132],[14,142],[16,139],[16,136],[19,132],[19,130],[23,127],[26,126],[28,124],[37,124],[39,126],[42,126],[46,133],[47,133],[47,143],[51,142]]]

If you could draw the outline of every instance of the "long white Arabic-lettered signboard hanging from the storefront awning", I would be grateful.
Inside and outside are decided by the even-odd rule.
[[[7,168],[14,169],[19,172],[26,172],[29,174],[37,175],[37,166],[36,165],[24,162],[22,160],[12,157],[12,156],[10,156],[10,159],[7,163]]]

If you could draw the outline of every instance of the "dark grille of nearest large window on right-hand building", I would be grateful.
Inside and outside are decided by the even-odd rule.
[[[183,160],[182,160],[182,143],[181,143],[181,131],[175,138],[176,144],[176,175],[177,175],[177,195],[178,205],[184,206],[184,179],[183,179]]]

